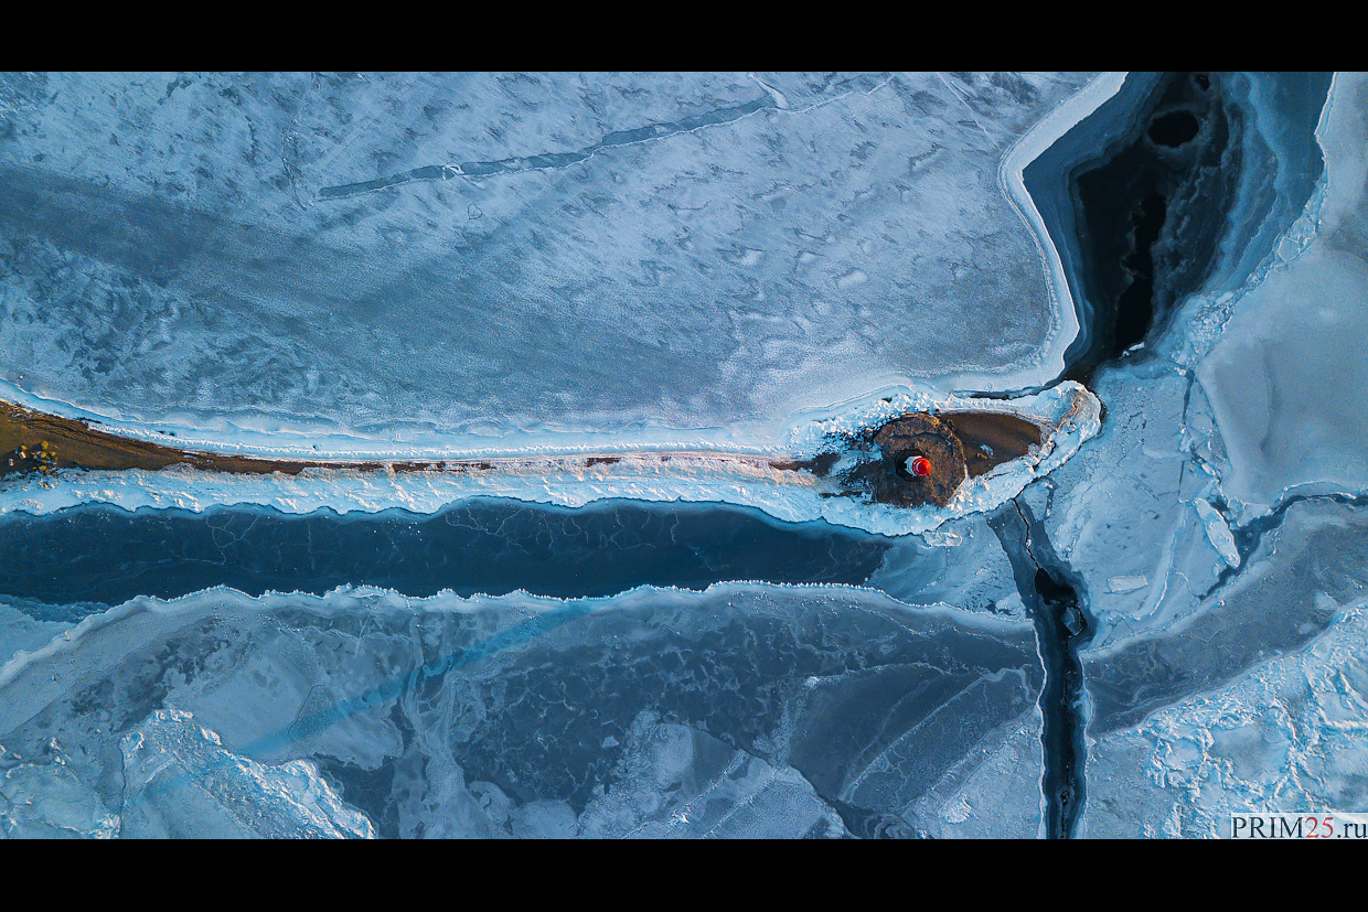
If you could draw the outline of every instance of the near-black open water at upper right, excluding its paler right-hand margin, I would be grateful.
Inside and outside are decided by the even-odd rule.
[[[1207,74],[1131,74],[1026,167],[1026,189],[1064,264],[1078,336],[1055,381],[977,395],[1029,395],[1059,380],[1092,386],[1097,368],[1134,354],[1200,287],[1239,178],[1227,108]],[[1175,205],[1194,217],[1170,217]],[[1176,249],[1181,257],[1163,256]]]

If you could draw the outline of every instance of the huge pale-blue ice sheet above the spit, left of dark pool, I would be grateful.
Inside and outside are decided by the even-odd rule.
[[[999,164],[1085,82],[4,77],[0,376],[389,436],[1022,388],[1068,321]]]

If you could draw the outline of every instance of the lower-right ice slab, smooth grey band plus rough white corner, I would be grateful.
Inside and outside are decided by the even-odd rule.
[[[1089,835],[1228,835],[1368,799],[1368,514],[1290,506],[1172,630],[1086,656]]]

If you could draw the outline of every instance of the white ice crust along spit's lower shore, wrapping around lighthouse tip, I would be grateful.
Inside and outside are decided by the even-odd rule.
[[[521,453],[518,455],[528,458],[520,459],[512,470],[461,474],[354,469],[305,469],[297,476],[194,469],[64,472],[56,484],[34,479],[7,485],[0,491],[0,515],[11,511],[51,514],[81,503],[111,503],[126,510],[181,507],[196,511],[211,506],[259,505],[283,513],[331,509],[345,514],[378,513],[391,507],[432,513],[469,498],[513,498],[570,507],[627,498],[733,503],[757,507],[788,522],[826,520],[834,525],[900,536],[929,532],[952,518],[1005,503],[1031,480],[1063,465],[1101,427],[1100,403],[1077,383],[1064,383],[1012,402],[903,388],[874,402],[810,413],[807,421],[791,428],[787,443],[800,453],[811,453],[828,435],[877,427],[899,414],[928,409],[1011,412],[1045,425],[1052,433],[1047,433],[1034,454],[969,479],[943,509],[923,506],[907,510],[821,496],[806,476],[763,462],[728,458],[724,447],[702,438],[676,444],[674,448],[683,453],[669,461],[632,458],[624,446],[622,451],[628,453],[624,458],[590,468],[572,468],[554,457],[534,458],[538,454]],[[647,448],[646,442],[636,442],[633,447],[636,451]],[[688,450],[696,453],[689,454]]]

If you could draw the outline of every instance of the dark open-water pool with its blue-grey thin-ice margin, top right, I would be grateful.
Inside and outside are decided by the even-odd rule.
[[[1321,172],[1313,130],[1328,86],[1309,72],[1133,72],[1026,167],[1078,314],[1063,379],[1150,357],[1135,346],[1183,298],[1257,265]],[[1254,93],[1285,122],[1265,123]],[[1270,168],[1271,146],[1285,170]]]

